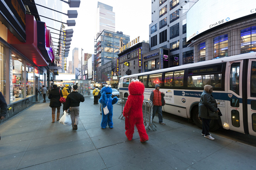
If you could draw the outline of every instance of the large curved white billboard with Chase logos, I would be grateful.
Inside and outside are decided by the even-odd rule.
[[[256,1],[199,0],[187,12],[187,42],[221,24],[256,14]]]

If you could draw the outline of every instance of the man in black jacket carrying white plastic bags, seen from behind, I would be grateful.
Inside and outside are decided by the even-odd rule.
[[[84,97],[77,91],[78,86],[73,86],[73,92],[70,93],[66,99],[65,111],[69,108],[70,117],[72,120],[73,130],[77,130],[77,125],[79,121],[79,106],[80,102],[84,102]]]

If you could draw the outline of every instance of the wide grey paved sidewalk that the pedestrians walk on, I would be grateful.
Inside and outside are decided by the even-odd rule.
[[[164,120],[141,143],[125,135],[122,105],[114,104],[114,128],[101,129],[100,104],[80,103],[78,130],[51,123],[49,100],[0,124],[1,170],[255,170],[256,148],[199,129]],[[62,111],[62,108],[61,108]],[[62,113],[60,114],[62,116]],[[158,117],[155,117],[158,122]]]

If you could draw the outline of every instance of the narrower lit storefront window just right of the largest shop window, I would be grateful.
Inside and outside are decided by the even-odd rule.
[[[30,97],[34,95],[34,67],[27,63],[26,65],[26,77],[27,77],[27,84],[26,84],[26,96]]]

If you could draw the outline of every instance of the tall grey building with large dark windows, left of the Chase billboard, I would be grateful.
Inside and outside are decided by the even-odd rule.
[[[186,41],[186,13],[197,0],[152,1],[150,50],[168,48],[170,67],[194,62],[194,49]]]

